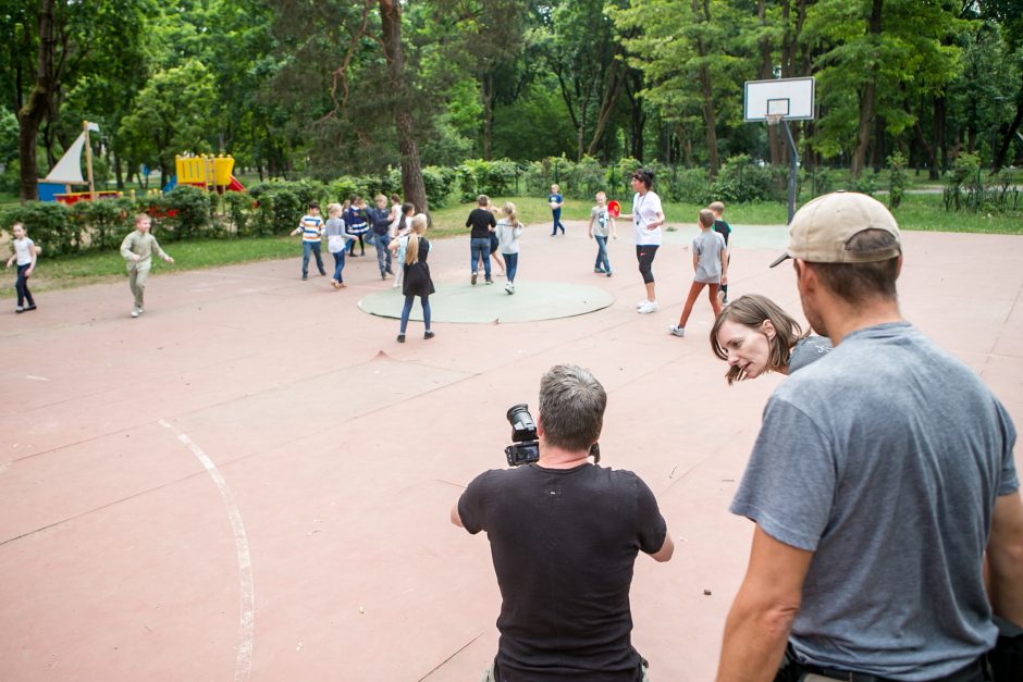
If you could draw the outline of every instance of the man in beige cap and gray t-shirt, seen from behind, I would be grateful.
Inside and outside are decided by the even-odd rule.
[[[764,410],[731,506],[756,528],[717,679],[981,682],[993,612],[1023,624],[1012,421],[902,319],[882,203],[818,197],[789,234],[774,264],[792,259],[835,350]]]

